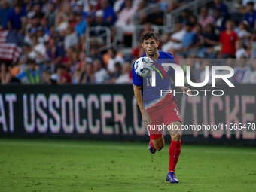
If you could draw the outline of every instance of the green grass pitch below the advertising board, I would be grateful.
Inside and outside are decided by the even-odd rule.
[[[165,181],[169,144],[0,139],[0,191],[256,191],[254,148],[182,145],[180,184]]]

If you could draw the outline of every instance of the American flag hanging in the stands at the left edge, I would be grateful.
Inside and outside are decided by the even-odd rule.
[[[17,62],[22,51],[24,36],[15,31],[0,32],[0,60]]]

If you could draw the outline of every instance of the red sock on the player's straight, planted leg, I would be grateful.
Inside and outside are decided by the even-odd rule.
[[[169,145],[169,172],[175,172],[175,166],[178,162],[178,157],[181,154],[181,140],[178,142],[172,141]]]

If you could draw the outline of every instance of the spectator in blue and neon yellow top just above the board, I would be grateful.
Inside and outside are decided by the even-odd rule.
[[[28,65],[23,72],[16,75],[22,84],[40,84],[41,70],[36,65],[35,59],[28,59]]]

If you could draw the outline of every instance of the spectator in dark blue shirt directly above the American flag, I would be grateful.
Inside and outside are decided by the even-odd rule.
[[[23,5],[18,2],[14,9],[8,14],[8,29],[21,29],[21,18],[26,16],[23,11]]]

